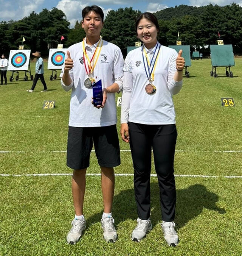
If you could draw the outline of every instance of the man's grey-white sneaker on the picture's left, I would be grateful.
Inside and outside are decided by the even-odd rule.
[[[67,243],[73,245],[80,240],[82,232],[86,228],[86,221],[84,218],[82,220],[74,219],[71,225],[72,228],[67,235]]]

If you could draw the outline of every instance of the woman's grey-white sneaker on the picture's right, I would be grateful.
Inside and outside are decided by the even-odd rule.
[[[163,229],[164,238],[169,246],[177,246],[178,245],[178,235],[175,231],[175,222],[165,222],[161,223],[161,227]]]

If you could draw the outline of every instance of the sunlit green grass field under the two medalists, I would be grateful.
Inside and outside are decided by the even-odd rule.
[[[34,71],[35,62],[31,62]],[[140,243],[130,239],[137,212],[133,176],[116,176],[113,217],[119,239],[107,244],[100,219],[100,176],[87,176],[84,214],[87,230],[74,246],[67,245],[74,208],[71,176],[12,176],[67,173],[66,165],[70,92],[59,77],[48,92],[26,92],[32,81],[0,86],[0,255],[242,255],[242,59],[232,67],[234,77],[210,76],[210,59],[194,60],[190,78],[174,96],[177,114],[175,153],[177,209],[175,222],[180,244],[169,248],[161,231],[157,177],[151,177],[151,220],[154,228]],[[225,73],[225,68],[217,69]],[[59,75],[59,71],[57,72]],[[29,75],[28,75],[29,76]],[[121,95],[117,95],[121,97]],[[222,107],[222,97],[233,97],[235,107]],[[56,100],[56,108],[43,110],[44,100]],[[118,131],[120,107],[118,107]],[[120,139],[121,150],[129,145]],[[3,151],[8,151],[3,153]],[[230,152],[225,152],[230,151]],[[91,153],[87,173],[100,173]],[[121,151],[115,173],[133,173],[129,151]],[[154,164],[152,173],[155,174]]]

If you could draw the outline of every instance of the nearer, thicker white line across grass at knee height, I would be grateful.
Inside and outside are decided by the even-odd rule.
[[[72,173],[33,173],[33,174],[0,174],[3,177],[21,177],[21,176],[71,176]],[[101,176],[101,173],[87,173],[87,176]],[[115,173],[115,176],[133,176],[133,173]],[[150,176],[156,177],[156,174]],[[175,177],[190,177],[190,178],[242,178],[242,176],[212,176],[212,175],[189,175],[189,174],[175,174]]]

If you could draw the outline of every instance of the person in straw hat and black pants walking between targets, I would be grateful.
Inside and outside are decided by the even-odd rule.
[[[34,92],[34,88],[35,88],[39,78],[44,86],[44,89],[41,92],[47,92],[47,86],[46,86],[45,78],[44,78],[44,64],[43,64],[43,59],[41,58],[41,53],[35,52],[35,53],[32,53],[32,55],[37,57],[37,61],[36,61],[36,65],[35,65],[35,76],[34,76],[33,85],[31,87],[31,89],[27,90],[27,92]]]

